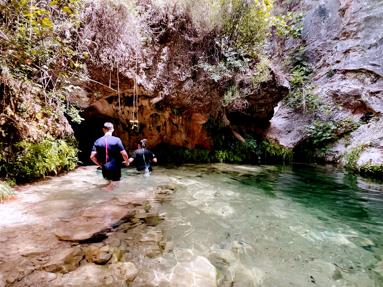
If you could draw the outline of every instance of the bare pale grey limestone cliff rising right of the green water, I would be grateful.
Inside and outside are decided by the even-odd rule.
[[[352,123],[361,123],[373,118],[374,123],[350,134],[349,143],[356,140],[355,144],[360,145],[365,138],[365,143],[371,144],[363,150],[361,158],[364,154],[373,156],[363,162],[371,158],[374,163],[383,164],[383,139],[377,133],[371,138],[373,126],[383,121],[383,6],[379,1],[305,0],[295,9],[307,11],[303,40],[273,41],[274,56],[283,62],[288,60],[289,49],[305,46],[304,57],[314,69],[311,78],[318,87],[316,94],[329,103],[329,108],[304,113],[280,103],[264,136],[293,148],[308,138],[304,126],[313,119],[321,122],[352,119]],[[353,127],[348,125],[335,132],[342,134]],[[361,136],[363,133],[369,135],[368,139]],[[328,160],[339,160],[353,146],[334,145]]]

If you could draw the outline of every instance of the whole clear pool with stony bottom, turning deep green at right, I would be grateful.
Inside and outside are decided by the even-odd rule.
[[[383,286],[382,182],[334,166],[93,166],[0,205],[4,286]]]

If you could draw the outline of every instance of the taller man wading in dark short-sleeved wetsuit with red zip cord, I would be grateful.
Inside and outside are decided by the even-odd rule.
[[[121,140],[118,137],[113,137],[114,129],[112,123],[106,122],[103,131],[105,135],[94,143],[90,158],[96,165],[100,166],[102,175],[106,180],[119,181],[121,179],[119,153],[122,154],[125,160],[124,163],[127,166],[129,165],[128,154]]]

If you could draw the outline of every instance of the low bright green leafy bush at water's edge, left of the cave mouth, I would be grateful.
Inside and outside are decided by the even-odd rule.
[[[69,171],[77,165],[77,152],[72,140],[54,140],[46,135],[40,142],[25,139],[16,143],[16,151],[10,155],[9,162],[2,161],[1,171],[8,178],[26,182],[39,179],[47,174]]]

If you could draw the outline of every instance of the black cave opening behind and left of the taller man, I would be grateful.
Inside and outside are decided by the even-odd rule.
[[[90,159],[93,143],[104,135],[102,127],[105,122],[111,122],[115,127],[116,119],[98,113],[92,107],[81,113],[83,121],[80,124],[71,122],[75,138],[79,141],[79,165],[94,165]],[[115,134],[113,134],[115,135]]]

